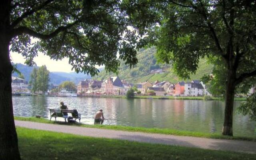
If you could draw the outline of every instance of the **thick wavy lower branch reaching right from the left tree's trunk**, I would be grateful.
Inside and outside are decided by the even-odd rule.
[[[50,34],[38,33],[38,32],[36,32],[34,30],[31,30],[30,28],[27,28],[25,26],[20,26],[20,27],[13,30],[12,37],[25,33],[25,34],[29,34],[30,36],[46,40],[46,39],[49,39],[49,38],[52,38],[52,37],[56,36],[58,33],[62,32],[62,31],[65,31],[68,28],[71,28],[72,26],[74,26],[78,22],[79,22],[79,20],[76,20],[75,22],[67,24],[66,26],[60,26],[56,30],[51,32]]]

